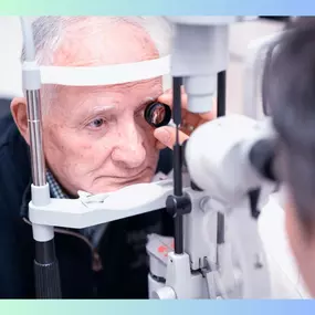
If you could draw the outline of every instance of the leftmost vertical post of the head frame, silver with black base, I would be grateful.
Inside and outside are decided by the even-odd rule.
[[[45,207],[50,202],[45,177],[45,159],[42,136],[41,75],[35,61],[32,25],[28,18],[21,18],[25,61],[22,66],[23,90],[28,108],[28,127],[32,168],[32,203]],[[32,223],[35,242],[34,273],[38,298],[61,298],[59,263],[54,246],[54,228]]]

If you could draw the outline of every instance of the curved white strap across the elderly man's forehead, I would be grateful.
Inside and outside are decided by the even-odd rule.
[[[41,66],[42,84],[112,85],[155,78],[170,73],[170,56],[104,66]]]

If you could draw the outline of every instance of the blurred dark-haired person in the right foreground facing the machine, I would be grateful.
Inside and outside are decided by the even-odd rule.
[[[315,296],[315,18],[300,18],[271,49],[263,82],[279,134],[285,227],[303,283]]]

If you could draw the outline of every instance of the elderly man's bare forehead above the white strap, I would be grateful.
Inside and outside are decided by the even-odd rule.
[[[150,34],[140,25],[94,18],[65,25],[53,64],[99,66],[140,62],[158,56],[159,52]]]

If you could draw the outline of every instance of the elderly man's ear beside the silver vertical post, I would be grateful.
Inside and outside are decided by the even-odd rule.
[[[18,126],[18,129],[28,144],[30,144],[29,126],[28,126],[28,108],[24,97],[15,97],[11,102],[11,114]]]

